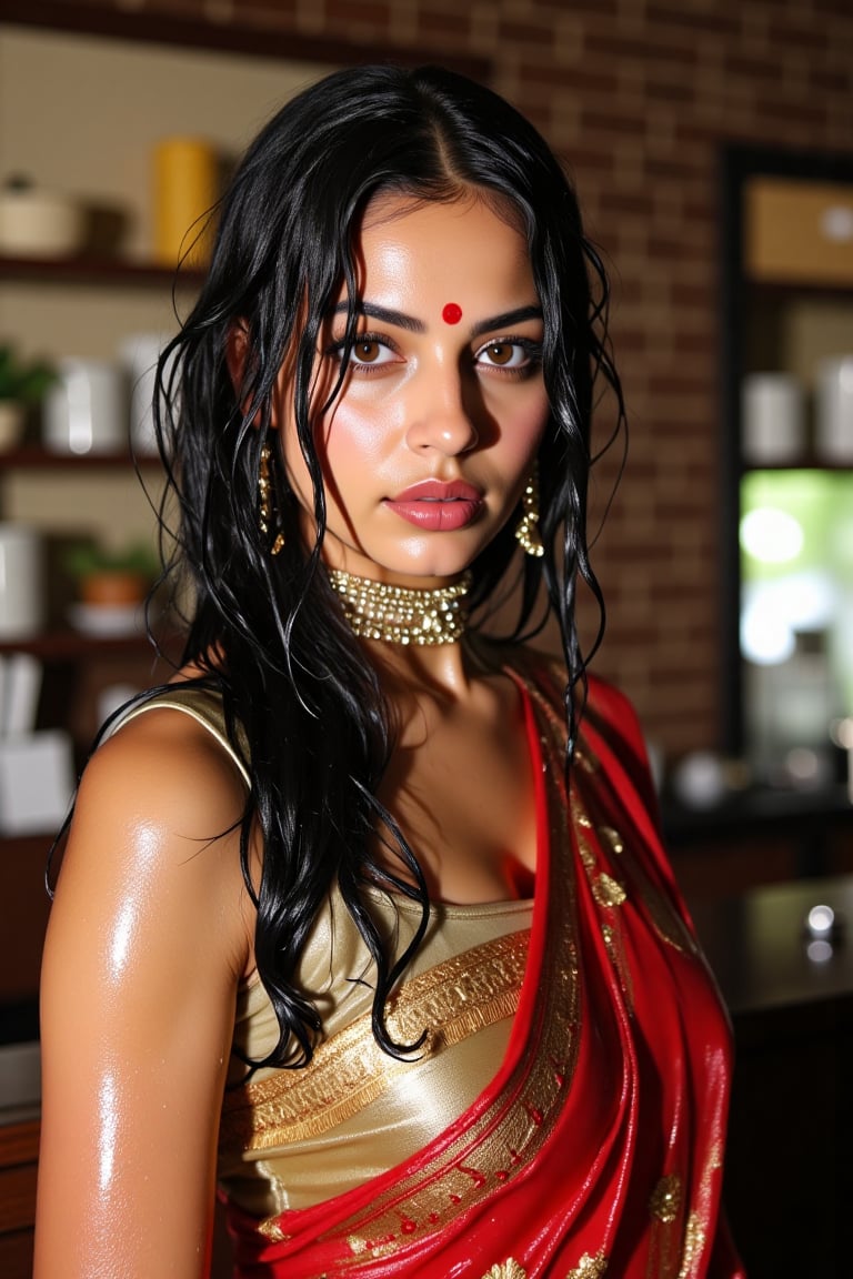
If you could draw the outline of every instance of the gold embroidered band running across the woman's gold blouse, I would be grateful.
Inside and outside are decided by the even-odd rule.
[[[270,1150],[317,1137],[376,1101],[404,1071],[512,1017],[527,964],[529,929],[496,938],[445,959],[407,981],[387,1003],[387,1027],[398,1042],[428,1039],[408,1060],[376,1044],[364,1013],[321,1044],[311,1064],[279,1071],[226,1097],[221,1141],[242,1150]]]

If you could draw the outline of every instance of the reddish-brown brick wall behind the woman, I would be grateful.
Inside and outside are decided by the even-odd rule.
[[[669,755],[712,744],[720,696],[719,146],[748,139],[853,148],[849,0],[98,5],[489,60],[492,86],[568,161],[613,275],[630,451],[595,551],[610,614],[596,669],[634,698]],[[83,8],[52,5],[65,6]],[[602,468],[601,495],[611,472]]]

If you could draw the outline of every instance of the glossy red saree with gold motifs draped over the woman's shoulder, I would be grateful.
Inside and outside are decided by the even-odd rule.
[[[720,1216],[730,1036],[674,889],[628,703],[591,682],[572,794],[561,691],[517,680],[537,885],[509,1048],[416,1157],[260,1228],[239,1279],[738,1279]]]

